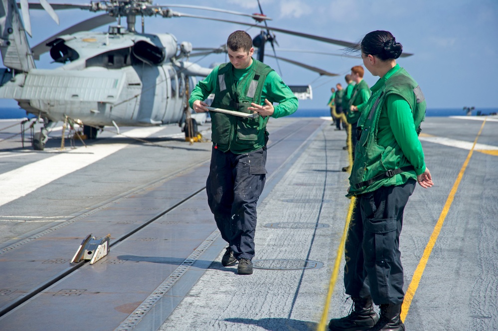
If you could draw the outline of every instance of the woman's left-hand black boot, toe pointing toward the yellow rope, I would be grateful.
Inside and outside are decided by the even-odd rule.
[[[353,307],[348,316],[332,319],[329,329],[332,331],[362,331],[370,330],[379,320],[379,315],[373,310],[372,298],[352,298]]]

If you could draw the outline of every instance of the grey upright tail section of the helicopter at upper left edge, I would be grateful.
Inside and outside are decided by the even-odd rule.
[[[15,0],[0,2],[0,52],[7,68],[23,72],[35,68]]]

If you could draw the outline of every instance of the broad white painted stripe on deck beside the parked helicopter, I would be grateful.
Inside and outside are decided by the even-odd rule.
[[[128,136],[151,135],[162,127],[133,129]],[[0,206],[21,198],[34,190],[82,169],[109,156],[129,144],[96,144],[87,148],[73,149],[68,152],[47,157],[20,168],[0,174]],[[82,153],[84,151],[84,153]],[[12,190],[15,187],[15,190]]]

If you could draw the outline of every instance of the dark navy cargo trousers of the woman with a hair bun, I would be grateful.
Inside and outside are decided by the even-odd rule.
[[[376,305],[401,304],[403,267],[399,235],[415,180],[357,196],[345,243],[344,287],[353,298]]]

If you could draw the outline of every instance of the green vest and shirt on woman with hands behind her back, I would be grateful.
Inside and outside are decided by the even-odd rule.
[[[358,120],[362,133],[355,147],[348,196],[372,192],[381,186],[401,185],[425,171],[418,133],[426,102],[417,82],[396,65],[375,83],[372,93]],[[379,179],[359,189],[354,187],[387,170],[410,165],[414,171]]]

